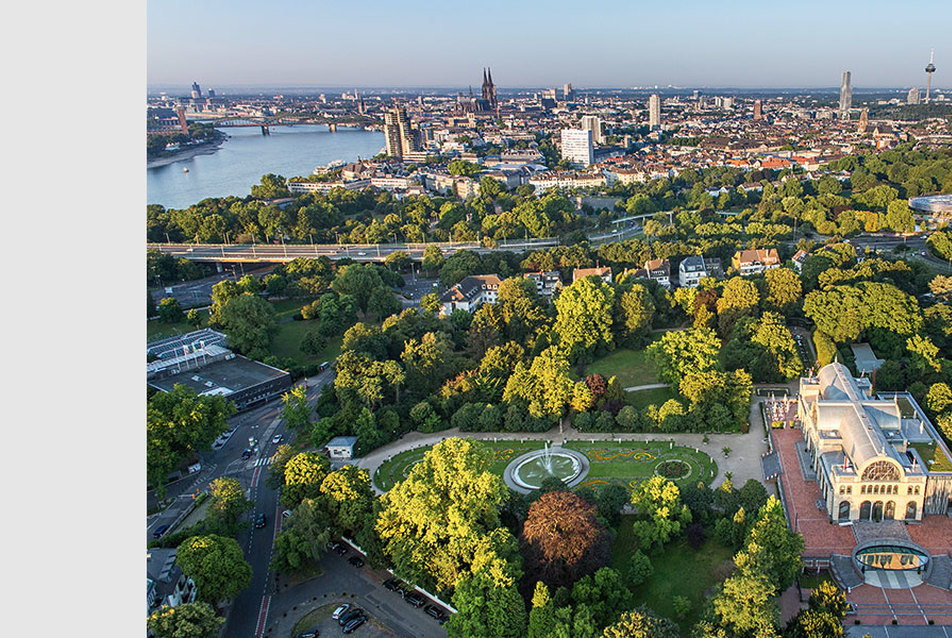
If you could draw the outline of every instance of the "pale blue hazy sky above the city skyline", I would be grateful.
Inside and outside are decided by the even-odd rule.
[[[931,47],[952,85],[942,0],[149,0],[147,28],[150,86],[909,87]]]

